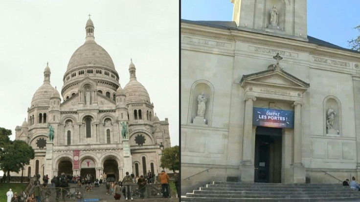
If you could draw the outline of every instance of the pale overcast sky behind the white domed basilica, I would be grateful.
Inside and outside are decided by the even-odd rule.
[[[0,127],[15,139],[46,62],[51,85],[61,91],[67,63],[85,42],[89,14],[121,87],[129,82],[132,58],[154,112],[169,119],[172,146],[179,145],[178,0],[0,0]]]

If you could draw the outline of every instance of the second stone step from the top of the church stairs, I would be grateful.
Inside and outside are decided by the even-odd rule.
[[[253,188],[253,189],[293,189],[293,188],[307,188],[307,189],[346,189],[348,186],[286,186],[286,185],[235,185],[235,184],[206,184],[205,187],[216,187],[216,188]]]

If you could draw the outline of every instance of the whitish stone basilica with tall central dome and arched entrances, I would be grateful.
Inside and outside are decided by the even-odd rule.
[[[35,150],[24,175],[90,174],[99,179],[106,173],[110,181],[118,181],[125,172],[158,174],[159,145],[171,146],[169,122],[156,116],[147,90],[136,80],[133,61],[129,74],[122,88],[110,55],[94,40],[89,18],[85,43],[68,62],[61,92],[51,86],[47,65],[44,83],[27,110],[28,121],[15,129],[16,140]]]

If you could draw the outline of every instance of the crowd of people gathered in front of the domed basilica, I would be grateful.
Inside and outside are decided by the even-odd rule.
[[[40,202],[41,194],[43,192],[43,197],[45,196],[44,201],[48,201],[50,199],[51,193],[55,195],[55,191],[51,191],[51,189],[47,189],[47,185],[49,183],[48,175],[43,176],[43,184],[40,182],[40,174],[35,175],[36,179],[34,181],[34,186],[30,190],[31,194],[27,196],[25,192],[21,191],[20,194],[17,192],[13,193],[10,189],[6,195],[7,195],[7,202]],[[146,184],[152,184],[152,183],[161,183],[161,192],[163,198],[169,198],[169,176],[165,173],[165,171],[161,171],[160,174],[158,174],[158,178],[156,178],[154,174],[152,174],[150,171],[147,173],[146,176],[141,175],[140,177],[135,177],[134,174],[130,174],[129,172],[126,172],[126,176],[121,180],[119,179],[118,182],[109,182],[107,181],[107,175],[104,173],[100,176],[100,180],[93,178],[91,175],[85,175],[82,176],[72,176],[72,175],[66,175],[62,173],[59,176],[54,176],[51,179],[51,187],[52,188],[61,188],[61,189],[55,189],[56,195],[55,200],[56,201],[66,201],[66,198],[72,198],[81,200],[82,195],[80,190],[76,190],[75,193],[69,192],[69,184],[74,183],[77,184],[77,186],[85,186],[85,192],[90,192],[94,189],[94,187],[99,187],[101,184],[105,184],[106,188],[106,194],[107,195],[113,195],[115,200],[119,200],[121,197],[121,193],[124,195],[125,200],[134,200],[133,199],[133,187],[134,184],[137,184],[137,190],[134,192],[138,197],[141,199],[145,198],[145,186]],[[177,173],[174,173],[175,177],[175,186],[177,191],[179,192],[179,175]],[[158,180],[158,182],[157,182]]]

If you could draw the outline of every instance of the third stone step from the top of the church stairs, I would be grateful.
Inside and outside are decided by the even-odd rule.
[[[284,192],[293,192],[293,191],[347,191],[352,190],[349,187],[339,187],[339,188],[229,188],[229,187],[200,187],[200,190],[208,191],[284,191]]]

